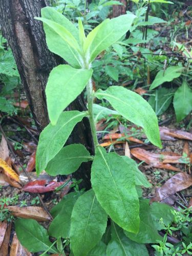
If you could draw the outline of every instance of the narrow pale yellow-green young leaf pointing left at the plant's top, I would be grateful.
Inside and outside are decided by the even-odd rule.
[[[65,27],[62,27],[60,24],[56,22],[52,22],[52,20],[47,18],[36,17],[37,20],[47,24],[51,29],[53,29],[63,40],[65,40],[69,46],[75,49],[77,52],[80,52],[80,48],[75,37],[67,30]]]

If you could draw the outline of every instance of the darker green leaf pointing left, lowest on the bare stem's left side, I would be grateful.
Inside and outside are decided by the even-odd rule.
[[[63,147],[48,163],[46,173],[52,176],[74,173],[82,162],[93,160],[89,151],[82,144],[71,144]]]

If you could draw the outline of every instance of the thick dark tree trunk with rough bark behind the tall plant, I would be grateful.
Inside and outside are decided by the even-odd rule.
[[[31,112],[39,131],[49,123],[45,87],[50,71],[59,63],[60,57],[51,53],[46,45],[42,24],[34,19],[40,16],[47,0],[0,0],[0,24],[3,35],[13,51],[18,72],[25,89]],[[80,95],[68,110],[86,110],[83,95]],[[89,121],[76,125],[70,143],[82,143],[93,154],[94,146]],[[81,172],[80,172],[81,171]],[[90,163],[76,173],[90,187]]]

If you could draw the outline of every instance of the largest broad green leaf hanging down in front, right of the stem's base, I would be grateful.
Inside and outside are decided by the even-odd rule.
[[[97,147],[91,169],[91,183],[97,200],[119,226],[139,230],[139,200],[134,170],[116,153]]]

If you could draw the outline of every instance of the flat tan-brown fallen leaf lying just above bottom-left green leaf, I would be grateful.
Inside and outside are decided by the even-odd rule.
[[[44,208],[38,206],[7,206],[7,209],[15,217],[34,219],[36,221],[49,221],[51,219]]]

